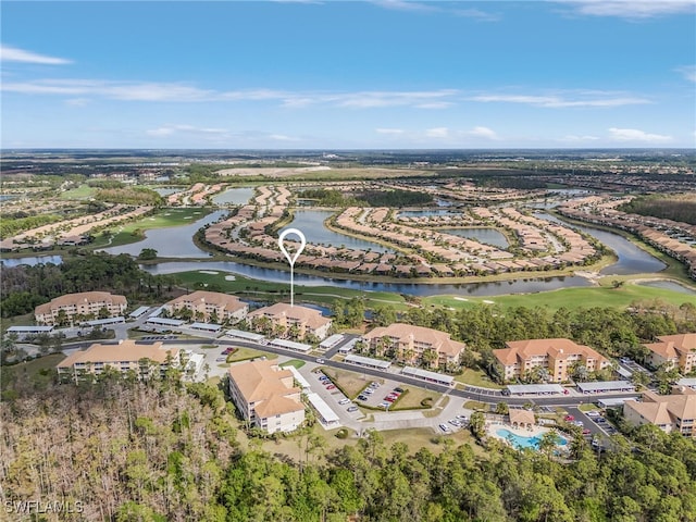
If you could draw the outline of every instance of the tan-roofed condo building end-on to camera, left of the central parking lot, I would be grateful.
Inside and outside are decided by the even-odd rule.
[[[291,432],[304,421],[304,405],[293,372],[281,370],[275,361],[232,365],[229,396],[250,426],[268,433]]]

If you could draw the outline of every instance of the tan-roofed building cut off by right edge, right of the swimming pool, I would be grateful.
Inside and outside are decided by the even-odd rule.
[[[675,386],[672,395],[644,391],[641,402],[624,402],[623,417],[634,426],[654,424],[664,433],[679,432],[696,438],[696,390]]]

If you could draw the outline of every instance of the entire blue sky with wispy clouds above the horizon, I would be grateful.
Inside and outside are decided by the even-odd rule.
[[[696,147],[696,0],[1,14],[3,148]]]

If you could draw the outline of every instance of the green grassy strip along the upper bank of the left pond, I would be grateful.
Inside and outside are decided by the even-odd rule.
[[[110,229],[114,233],[109,241],[108,237],[99,234],[95,241],[89,245],[91,248],[117,247],[137,243],[142,239],[141,233],[151,228],[165,228],[169,226],[190,225],[192,221],[200,220],[211,212],[206,208],[182,208],[162,209],[153,215],[142,217],[123,225],[114,225]]]

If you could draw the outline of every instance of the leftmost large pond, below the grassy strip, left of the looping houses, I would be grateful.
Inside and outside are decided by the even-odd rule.
[[[112,253],[114,256],[127,253],[137,257],[144,248],[153,248],[157,250],[158,256],[163,258],[206,258],[209,256],[208,252],[194,245],[192,237],[201,226],[214,223],[226,214],[226,210],[217,210],[200,220],[191,220],[190,225],[167,226],[145,231],[146,238],[141,241],[122,245],[120,247],[103,248],[98,251]]]

